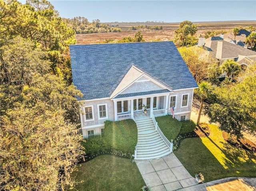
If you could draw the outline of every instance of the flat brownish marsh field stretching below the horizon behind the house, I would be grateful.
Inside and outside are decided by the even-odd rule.
[[[174,39],[174,30],[176,30],[180,23],[149,23],[149,22],[135,22],[135,23],[105,23],[110,25],[118,25],[122,32],[108,32],[108,33],[88,33],[77,34],[77,44],[93,44],[100,43],[106,39],[122,39],[123,37],[134,37],[138,31],[143,35],[145,41],[168,41]],[[247,28],[250,25],[255,26],[256,21],[222,21],[222,22],[194,22],[197,25],[197,36],[204,35],[208,31],[225,30],[231,31],[235,27]],[[147,26],[162,26],[162,30],[139,29],[132,30],[132,26],[147,25]]]

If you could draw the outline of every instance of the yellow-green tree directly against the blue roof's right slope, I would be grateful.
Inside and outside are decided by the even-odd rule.
[[[207,78],[209,67],[215,61],[208,51],[198,46],[180,47],[178,51],[197,83]]]

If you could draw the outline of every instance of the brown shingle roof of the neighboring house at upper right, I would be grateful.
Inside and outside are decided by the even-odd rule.
[[[204,47],[212,49],[212,57],[214,58],[216,57],[217,52],[220,53],[217,53],[218,56],[221,56],[218,59],[235,58],[238,57],[238,55],[256,55],[255,51],[249,50],[239,45],[232,44],[230,42],[226,42],[224,40],[209,41],[205,43]]]

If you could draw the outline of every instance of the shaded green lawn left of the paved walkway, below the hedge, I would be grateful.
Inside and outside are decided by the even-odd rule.
[[[78,183],[73,191],[141,191],[146,185],[135,162],[130,159],[101,155],[78,165],[73,173]]]

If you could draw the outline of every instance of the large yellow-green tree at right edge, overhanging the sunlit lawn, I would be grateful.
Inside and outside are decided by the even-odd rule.
[[[220,130],[242,137],[242,132],[256,132],[256,75],[246,76],[240,83],[215,88],[215,103],[206,106],[210,122],[218,122]]]

